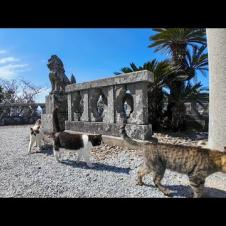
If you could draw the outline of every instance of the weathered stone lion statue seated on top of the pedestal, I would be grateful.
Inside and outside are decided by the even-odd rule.
[[[71,84],[65,75],[64,65],[57,55],[52,55],[48,60],[49,79],[51,82],[51,92],[65,91],[65,86]]]

